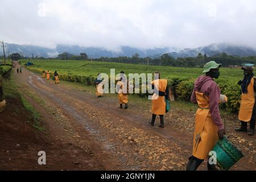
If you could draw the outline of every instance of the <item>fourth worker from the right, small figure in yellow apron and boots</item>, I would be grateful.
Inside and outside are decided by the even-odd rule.
[[[125,104],[125,109],[128,107],[128,89],[127,89],[127,79],[124,76],[125,72],[120,72],[121,77],[117,82],[117,91],[118,91],[118,102],[119,109],[123,108],[123,104]]]

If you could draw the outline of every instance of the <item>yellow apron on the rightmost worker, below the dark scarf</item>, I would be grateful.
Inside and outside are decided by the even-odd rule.
[[[253,88],[254,79],[255,77],[251,78],[251,82],[247,87],[248,93],[242,93],[238,118],[244,122],[249,122],[251,120],[251,115],[253,114],[253,107],[255,103],[254,88]]]

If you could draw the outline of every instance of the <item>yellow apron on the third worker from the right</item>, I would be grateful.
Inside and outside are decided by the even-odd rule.
[[[166,92],[167,88],[167,80],[166,79],[158,79],[153,80],[151,82],[152,85],[155,86],[161,92]],[[157,94],[153,94],[152,96],[152,114],[155,115],[164,115],[166,113],[166,101],[164,100],[164,96],[158,96]]]

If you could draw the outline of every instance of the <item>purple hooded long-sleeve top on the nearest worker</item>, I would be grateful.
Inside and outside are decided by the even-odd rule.
[[[220,88],[218,88],[216,82],[214,82],[212,77],[202,75],[197,78],[194,86],[191,101],[194,104],[197,103],[195,92],[204,93],[205,96],[209,96],[209,106],[212,120],[217,125],[218,130],[224,129],[224,125],[220,117],[220,109],[218,107],[218,102],[220,100]]]

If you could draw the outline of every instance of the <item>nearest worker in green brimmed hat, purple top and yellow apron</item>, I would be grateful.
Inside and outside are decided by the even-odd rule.
[[[196,111],[193,153],[187,164],[188,171],[195,171],[209,158],[209,152],[225,134],[218,104],[228,101],[228,98],[220,94],[220,88],[214,81],[214,78],[220,76],[220,66],[215,61],[208,62],[204,65],[205,76],[202,75],[195,81],[191,101],[199,108]],[[208,170],[217,170],[214,164],[209,163],[209,159]]]

